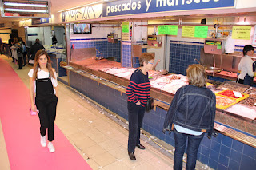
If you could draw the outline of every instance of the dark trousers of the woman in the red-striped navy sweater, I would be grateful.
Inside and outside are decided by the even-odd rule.
[[[140,144],[142,121],[145,108],[142,105],[136,105],[128,101],[128,121],[129,121],[129,137],[128,151],[134,152],[137,144]]]

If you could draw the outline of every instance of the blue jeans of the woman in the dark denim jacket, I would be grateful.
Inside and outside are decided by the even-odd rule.
[[[188,144],[186,148],[187,161],[186,170],[195,168],[198,156],[198,148],[202,141],[204,133],[199,136],[180,133],[174,128],[175,152],[174,152],[174,170],[182,170],[182,157],[186,148],[186,139]]]

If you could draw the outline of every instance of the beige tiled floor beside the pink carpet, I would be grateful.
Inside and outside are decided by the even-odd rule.
[[[17,70],[11,59],[0,56],[10,63],[18,76],[28,87],[27,73],[31,66]],[[142,140],[146,150],[136,148],[137,160],[132,161],[127,154],[128,131],[107,117],[108,113],[79,96],[66,85],[59,83],[59,97],[56,125],[74,145],[81,156],[93,169],[172,169],[173,160],[163,155]],[[0,126],[0,169],[10,169]],[[54,141],[58,143],[58,141]],[[58,152],[58,150],[56,150]],[[9,168],[8,168],[9,167]]]

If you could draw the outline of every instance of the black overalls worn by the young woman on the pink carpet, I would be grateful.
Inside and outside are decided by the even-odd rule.
[[[56,106],[58,98],[54,94],[54,87],[48,78],[36,80],[36,97],[35,104],[39,110],[40,134],[46,136],[46,128],[48,128],[48,140],[54,140],[54,121],[56,117]]]

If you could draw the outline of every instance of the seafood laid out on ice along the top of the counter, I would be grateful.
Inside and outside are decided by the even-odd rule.
[[[134,73],[134,70],[136,69],[115,67],[102,69],[103,72],[128,80],[130,80],[130,76],[132,73]],[[172,94],[175,94],[176,91],[183,85],[188,85],[187,77],[181,74],[162,75],[157,71],[150,70],[149,78],[152,88]],[[248,117],[251,119],[256,118],[256,107],[254,105],[256,102],[255,88],[248,89],[246,87],[236,84],[232,85],[226,82],[221,83],[210,80],[207,82],[206,87],[216,94],[216,107],[218,109],[225,109],[227,112],[238,114],[242,117]],[[245,91],[246,93],[243,93]],[[235,92],[239,92],[238,94],[241,93],[241,96],[238,97],[237,93]]]

